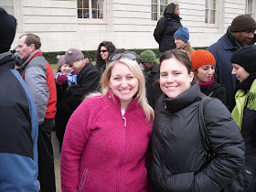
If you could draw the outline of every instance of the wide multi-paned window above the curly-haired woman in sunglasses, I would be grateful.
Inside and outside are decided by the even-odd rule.
[[[78,18],[103,19],[103,0],[78,0]]]

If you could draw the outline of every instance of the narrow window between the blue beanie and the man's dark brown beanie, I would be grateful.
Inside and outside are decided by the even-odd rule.
[[[206,24],[216,24],[216,0],[206,0]]]

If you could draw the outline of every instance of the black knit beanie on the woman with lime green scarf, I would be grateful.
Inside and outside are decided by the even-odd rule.
[[[249,73],[256,72],[256,46],[246,46],[239,48],[230,59],[231,63],[235,63],[243,67]]]

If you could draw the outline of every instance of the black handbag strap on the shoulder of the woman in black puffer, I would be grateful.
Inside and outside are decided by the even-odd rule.
[[[205,118],[204,118],[204,104],[207,101],[212,100],[212,98],[210,97],[204,97],[200,103],[199,103],[199,127],[200,127],[200,133],[202,135],[203,138],[203,142],[207,148],[208,152],[213,152],[211,149],[211,146],[209,144],[209,139],[208,139],[208,131],[207,131],[207,127],[206,127],[206,123],[205,123]]]

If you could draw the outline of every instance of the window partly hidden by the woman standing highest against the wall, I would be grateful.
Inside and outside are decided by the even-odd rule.
[[[164,14],[168,0],[151,0],[151,20],[157,21]]]

